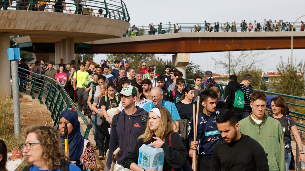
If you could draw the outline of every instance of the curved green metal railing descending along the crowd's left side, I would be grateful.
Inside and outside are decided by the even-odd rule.
[[[60,113],[73,107],[87,126],[82,134],[88,139],[92,125],[75,105],[66,90],[56,80],[20,67],[18,67],[18,76],[20,92],[27,93],[32,99],[37,98],[41,104],[47,106],[51,113],[54,127],[59,125]]]

